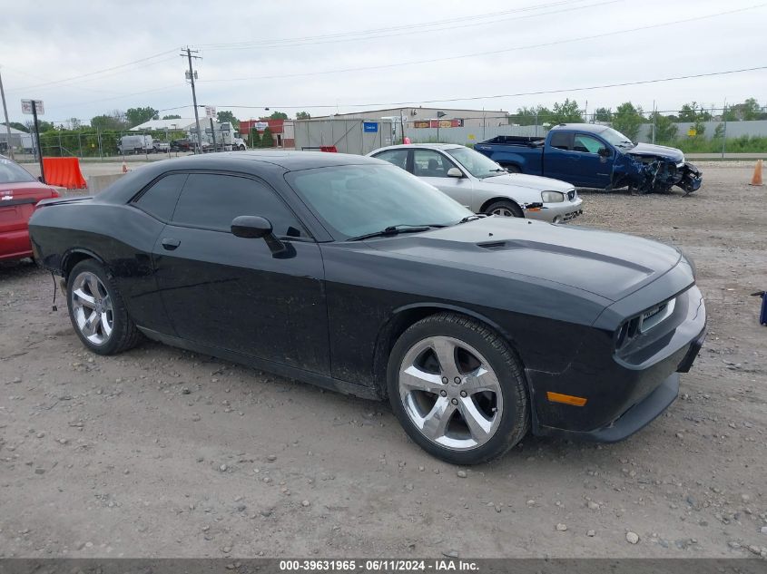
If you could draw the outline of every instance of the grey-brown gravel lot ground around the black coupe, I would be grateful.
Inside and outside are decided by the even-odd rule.
[[[767,556],[767,188],[584,192],[579,225],[695,258],[709,336],[682,394],[612,445],[527,437],[459,469],[384,404],[171,347],[84,351],[53,281],[0,267],[0,557]],[[616,384],[620,384],[616,381]]]

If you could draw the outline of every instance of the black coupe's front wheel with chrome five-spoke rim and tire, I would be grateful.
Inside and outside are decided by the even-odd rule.
[[[522,366],[506,340],[467,316],[410,326],[389,355],[388,398],[409,437],[452,464],[487,462],[529,428]]]

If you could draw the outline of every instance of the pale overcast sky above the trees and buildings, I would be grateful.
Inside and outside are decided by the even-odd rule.
[[[178,55],[187,44],[202,55],[198,102],[240,119],[268,114],[265,106],[292,117],[394,102],[513,112],[568,96],[590,111],[627,100],[645,110],[653,101],[659,110],[693,100],[767,103],[767,70],[427,103],[767,65],[759,0],[47,0],[4,2],[0,12],[0,73],[19,122],[29,119],[21,98],[43,100],[52,122],[147,105],[192,117]]]

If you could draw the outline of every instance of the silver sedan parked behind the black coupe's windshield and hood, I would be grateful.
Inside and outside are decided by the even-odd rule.
[[[507,173],[495,161],[466,146],[449,143],[393,145],[369,156],[407,170],[475,213],[543,219],[575,219],[583,199],[565,181]]]

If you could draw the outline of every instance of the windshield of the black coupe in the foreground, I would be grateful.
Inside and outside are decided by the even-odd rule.
[[[391,226],[452,225],[472,215],[393,165],[332,166],[293,171],[285,178],[339,239]]]

